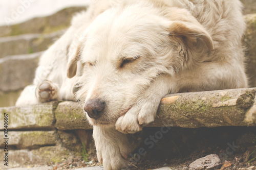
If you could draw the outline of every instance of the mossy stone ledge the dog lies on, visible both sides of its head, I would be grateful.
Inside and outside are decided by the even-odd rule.
[[[256,88],[189,92],[166,95],[156,120],[146,127],[256,126]],[[9,129],[92,129],[76,102],[50,102],[26,107],[1,108],[8,113]],[[4,128],[0,117],[0,130]]]

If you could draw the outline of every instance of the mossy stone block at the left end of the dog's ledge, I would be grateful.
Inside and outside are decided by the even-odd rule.
[[[8,114],[8,129],[53,129],[56,121],[54,109],[58,102],[24,106],[0,108],[0,130],[4,129],[4,113]]]

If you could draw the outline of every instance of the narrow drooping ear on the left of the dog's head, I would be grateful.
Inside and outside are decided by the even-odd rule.
[[[74,51],[71,54],[68,61],[67,76],[70,79],[76,75],[77,61],[80,59],[80,53],[81,53],[81,44],[78,44],[78,46],[74,48]]]

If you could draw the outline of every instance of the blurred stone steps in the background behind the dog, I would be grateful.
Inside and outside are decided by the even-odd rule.
[[[91,1],[0,0],[0,107],[15,105],[23,88],[33,82],[40,55]],[[250,87],[256,87],[256,0],[242,3],[248,25],[243,39],[247,74]]]

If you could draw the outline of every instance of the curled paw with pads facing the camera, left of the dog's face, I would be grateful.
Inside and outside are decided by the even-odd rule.
[[[40,102],[49,102],[57,98],[58,88],[51,81],[44,80],[37,86],[36,94]]]

